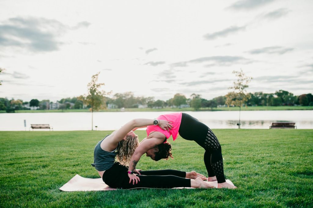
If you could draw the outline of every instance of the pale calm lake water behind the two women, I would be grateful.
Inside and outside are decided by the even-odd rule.
[[[171,112],[94,112],[94,126],[98,126],[98,130],[115,130],[133,118],[153,119],[166,113]],[[239,111],[186,111],[186,113],[212,129],[238,128],[236,124]],[[0,113],[0,131],[24,131],[24,120],[27,131],[30,124],[50,124],[54,131],[91,130],[91,113],[69,112]],[[241,111],[243,129],[269,129],[271,123],[277,121],[295,122],[298,129],[313,129],[313,111]]]

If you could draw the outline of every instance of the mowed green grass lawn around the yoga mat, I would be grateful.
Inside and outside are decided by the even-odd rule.
[[[62,192],[75,174],[98,178],[95,144],[111,131],[1,131],[1,207],[312,207],[313,130],[216,129],[224,172],[238,189]],[[145,131],[137,131],[139,138]],[[171,141],[170,141],[171,142]],[[203,149],[178,137],[174,159],[143,156],[142,170],[204,175]]]

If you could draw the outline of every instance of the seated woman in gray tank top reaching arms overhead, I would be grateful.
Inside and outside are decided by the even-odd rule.
[[[184,172],[177,170],[158,170],[128,172],[124,164],[130,162],[130,158],[139,145],[138,136],[134,131],[149,125],[158,125],[163,130],[169,131],[173,126],[170,121],[156,119],[133,119],[122,126],[119,130],[112,132],[98,142],[94,151],[94,163],[91,164],[98,171],[103,181],[113,187],[121,189],[130,188],[213,188],[203,181],[206,179],[195,171]],[[153,147],[151,147],[153,148]],[[118,162],[115,162],[115,157]],[[134,174],[130,180],[128,174]],[[195,180],[191,180],[195,179]]]

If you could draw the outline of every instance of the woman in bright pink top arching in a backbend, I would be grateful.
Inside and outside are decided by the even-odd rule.
[[[161,129],[157,126],[160,119],[171,121],[173,127],[168,130]],[[175,141],[179,133],[182,138],[195,141],[204,148],[204,164],[208,171],[208,181],[218,181],[218,188],[236,188],[225,180],[222,149],[218,139],[211,129],[198,119],[182,112],[164,114],[154,120],[154,126],[147,126],[146,131],[147,137],[136,148],[128,171],[135,169],[144,153],[155,161],[172,157],[171,145],[167,139],[172,135]],[[128,176],[137,183],[138,176],[134,174]]]

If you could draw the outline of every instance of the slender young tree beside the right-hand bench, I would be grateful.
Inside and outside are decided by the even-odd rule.
[[[249,82],[253,79],[252,77],[245,76],[242,69],[240,71],[233,71],[233,74],[236,75],[237,80],[233,82],[233,86],[228,89],[233,89],[233,92],[230,92],[226,95],[226,104],[239,106],[239,123],[238,128],[240,129],[240,112],[241,106],[247,102],[251,95],[247,93],[246,88],[249,87]]]

